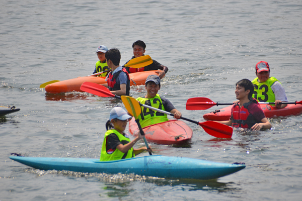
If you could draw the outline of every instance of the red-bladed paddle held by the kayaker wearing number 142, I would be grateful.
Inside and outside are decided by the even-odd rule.
[[[100,84],[92,83],[92,82],[84,82],[81,86],[81,90],[98,95],[98,96],[102,96],[102,97],[121,98],[120,96],[114,95],[113,93],[111,93],[107,87],[100,85]],[[174,114],[169,113],[167,111],[163,111],[163,110],[153,108],[153,107],[143,105],[143,104],[139,104],[139,105],[144,108],[155,110],[160,113],[165,113],[167,115],[174,117]],[[218,123],[218,122],[211,122],[211,121],[196,122],[196,121],[184,118],[184,117],[181,117],[180,119],[183,119],[183,120],[186,120],[186,121],[189,121],[189,122],[192,122],[194,124],[201,126],[206,133],[208,133],[209,135],[214,136],[216,138],[231,138],[232,134],[233,134],[232,127],[226,126],[226,125]]]

